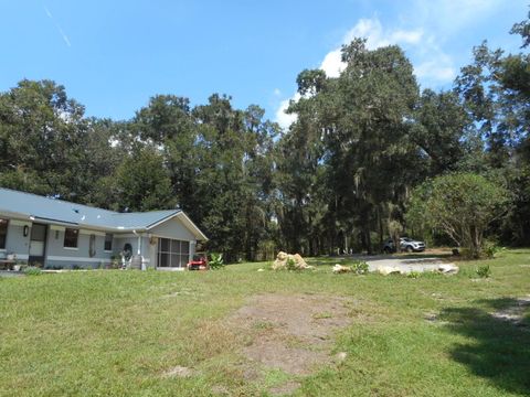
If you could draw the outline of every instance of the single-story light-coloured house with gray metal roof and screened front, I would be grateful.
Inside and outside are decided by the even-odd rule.
[[[0,257],[97,268],[125,253],[141,268],[183,269],[206,236],[180,210],[117,213],[0,187]]]

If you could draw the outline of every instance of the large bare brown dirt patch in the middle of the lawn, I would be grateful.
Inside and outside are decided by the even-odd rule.
[[[333,333],[350,323],[353,302],[328,296],[262,294],[231,318],[253,339],[243,348],[247,360],[289,375],[307,375],[330,356]]]

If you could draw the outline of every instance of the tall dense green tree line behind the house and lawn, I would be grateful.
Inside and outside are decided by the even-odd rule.
[[[530,245],[530,22],[519,53],[474,49],[452,89],[420,89],[396,45],[342,47],[344,69],[305,69],[283,130],[255,105],[157,95],[125,121],[86,117],[52,81],[0,94],[0,185],[121,212],[180,207],[230,261],[381,247],[418,235],[411,192],[439,175],[481,175],[510,192],[487,234]]]

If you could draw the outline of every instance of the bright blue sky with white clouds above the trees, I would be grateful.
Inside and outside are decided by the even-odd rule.
[[[86,114],[128,119],[156,94],[282,114],[304,68],[337,74],[353,36],[400,44],[422,87],[447,88],[474,45],[518,51],[529,0],[0,0],[0,90],[50,78]]]

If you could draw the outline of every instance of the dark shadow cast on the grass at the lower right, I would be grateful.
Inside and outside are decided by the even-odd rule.
[[[530,318],[501,318],[519,305],[516,299],[481,300],[477,308],[452,308],[442,312],[447,328],[471,339],[456,344],[451,355],[477,376],[509,393],[530,395]]]

